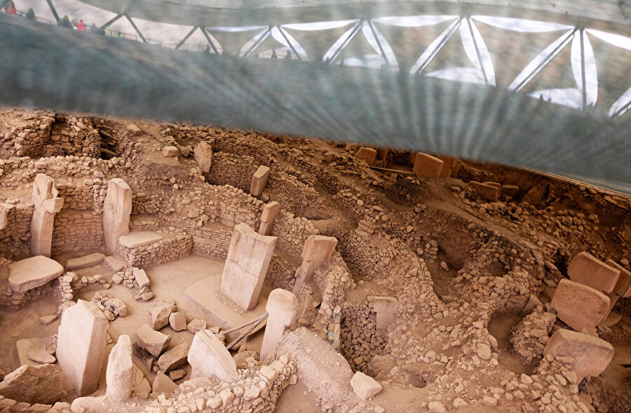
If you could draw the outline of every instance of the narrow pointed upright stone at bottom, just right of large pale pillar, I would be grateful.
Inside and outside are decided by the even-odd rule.
[[[110,400],[127,400],[134,384],[134,363],[132,345],[128,335],[118,337],[116,346],[111,349],[107,359],[106,394]]]

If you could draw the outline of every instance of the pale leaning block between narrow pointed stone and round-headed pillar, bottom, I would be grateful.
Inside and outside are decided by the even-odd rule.
[[[230,352],[210,330],[195,334],[188,360],[192,367],[191,379],[217,377],[222,381],[234,381],[238,377]]]

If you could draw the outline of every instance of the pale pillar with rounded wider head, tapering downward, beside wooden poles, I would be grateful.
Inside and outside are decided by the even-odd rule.
[[[261,360],[265,360],[276,353],[278,342],[283,338],[285,330],[291,325],[296,316],[298,299],[294,294],[282,288],[276,288],[269,293],[265,309],[269,313],[263,344],[261,346]]]

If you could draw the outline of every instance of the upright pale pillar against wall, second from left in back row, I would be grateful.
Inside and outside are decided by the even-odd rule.
[[[105,246],[114,254],[118,237],[129,233],[132,190],[125,181],[114,178],[107,183],[107,195],[103,204],[103,230]]]

